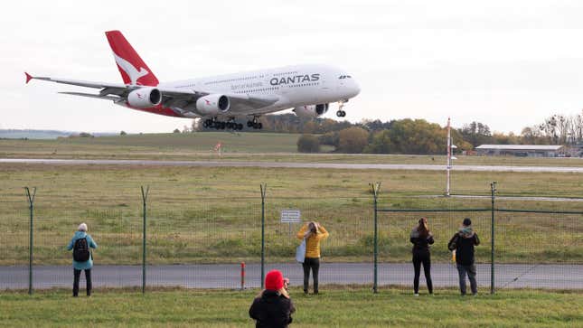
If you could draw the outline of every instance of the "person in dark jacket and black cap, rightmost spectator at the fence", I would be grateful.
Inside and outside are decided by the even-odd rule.
[[[472,220],[465,218],[462,227],[449,240],[447,248],[456,251],[456,267],[459,274],[459,290],[465,295],[465,276],[470,280],[472,295],[478,293],[478,286],[475,281],[475,257],[474,247],[480,245],[477,233],[472,229]]]

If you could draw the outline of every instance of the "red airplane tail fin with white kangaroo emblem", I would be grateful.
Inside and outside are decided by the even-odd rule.
[[[152,70],[147,67],[146,62],[142,61],[121,32],[108,31],[105,34],[124,83],[152,87],[158,85],[158,79]]]

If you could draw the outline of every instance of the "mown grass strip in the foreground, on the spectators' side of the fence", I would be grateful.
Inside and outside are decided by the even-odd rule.
[[[253,326],[249,305],[257,290],[148,292],[97,291],[90,298],[71,298],[70,291],[33,296],[0,294],[0,325],[5,327],[240,327]],[[578,293],[504,291],[461,297],[454,290],[413,297],[361,287],[324,289],[301,295],[292,327],[580,327],[583,295]]]

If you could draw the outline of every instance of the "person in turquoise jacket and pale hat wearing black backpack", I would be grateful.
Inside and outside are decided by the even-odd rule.
[[[87,295],[91,295],[91,267],[93,267],[93,256],[89,248],[97,248],[95,241],[87,234],[87,224],[81,223],[79,229],[71,239],[67,250],[73,251],[73,297],[79,295],[79,278],[81,270],[85,271],[87,282]]]

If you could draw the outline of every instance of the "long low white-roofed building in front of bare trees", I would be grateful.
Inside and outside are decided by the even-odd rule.
[[[558,157],[564,155],[563,145],[478,145],[477,155],[511,155],[522,157]]]

